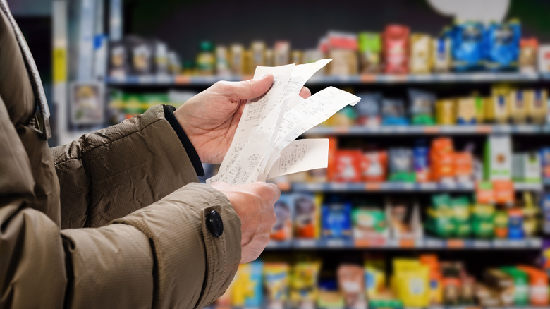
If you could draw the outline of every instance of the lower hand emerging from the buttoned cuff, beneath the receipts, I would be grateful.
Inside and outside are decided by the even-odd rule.
[[[273,207],[281,191],[273,183],[230,185],[212,183],[212,187],[224,193],[240,217],[240,262],[256,260],[269,243],[269,234],[277,218]]]

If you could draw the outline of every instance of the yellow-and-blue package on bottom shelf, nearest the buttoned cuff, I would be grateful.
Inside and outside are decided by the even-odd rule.
[[[234,307],[259,307],[263,302],[263,263],[259,261],[239,265],[233,279],[231,303]]]

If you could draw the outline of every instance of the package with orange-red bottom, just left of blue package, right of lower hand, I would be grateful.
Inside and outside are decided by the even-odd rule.
[[[294,235],[296,238],[319,238],[321,199],[320,195],[295,195]]]

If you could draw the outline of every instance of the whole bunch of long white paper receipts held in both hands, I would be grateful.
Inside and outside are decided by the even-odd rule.
[[[273,85],[262,97],[247,101],[219,172],[207,183],[267,181],[326,167],[328,140],[295,139],[346,105],[353,106],[360,100],[335,87],[327,87],[307,99],[299,96],[307,80],[330,61],[257,67],[254,78],[272,74]]]

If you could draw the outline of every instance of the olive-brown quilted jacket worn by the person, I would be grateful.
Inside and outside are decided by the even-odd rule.
[[[195,183],[161,106],[50,149],[35,63],[0,8],[0,308],[212,303],[240,261],[226,196]]]

